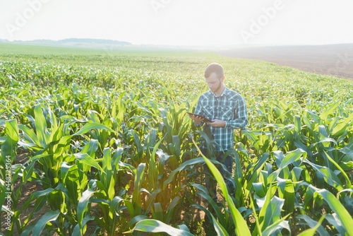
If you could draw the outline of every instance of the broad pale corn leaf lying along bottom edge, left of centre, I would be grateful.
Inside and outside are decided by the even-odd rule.
[[[170,225],[162,223],[160,220],[152,220],[152,219],[145,219],[140,220],[136,223],[135,227],[132,230],[124,232],[133,233],[134,231],[140,232],[166,232],[168,235],[172,236],[193,236],[190,232],[186,230],[179,230],[177,228],[173,228]]]

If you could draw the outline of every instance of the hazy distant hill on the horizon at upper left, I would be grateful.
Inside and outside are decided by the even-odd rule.
[[[8,41],[1,40],[2,43],[20,44],[20,45],[42,45],[42,46],[68,46],[68,47],[91,47],[91,48],[107,48],[107,47],[121,47],[131,45],[130,42],[117,40],[102,40],[90,38],[68,38],[65,40],[30,40],[30,41]]]

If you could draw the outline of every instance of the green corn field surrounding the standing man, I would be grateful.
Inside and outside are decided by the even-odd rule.
[[[214,61],[249,112],[234,134],[234,193],[186,114]],[[0,55],[0,83],[2,235],[353,235],[352,81],[121,52]]]

